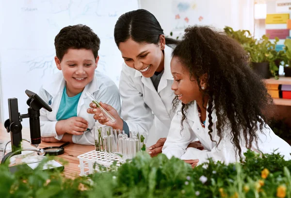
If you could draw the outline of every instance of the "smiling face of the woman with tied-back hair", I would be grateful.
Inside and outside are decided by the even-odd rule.
[[[162,38],[161,38],[162,37]],[[139,70],[146,78],[152,77],[156,71],[163,70],[164,35],[160,43],[137,43],[131,38],[119,44],[119,50],[127,66]]]

